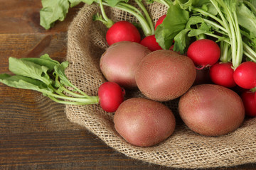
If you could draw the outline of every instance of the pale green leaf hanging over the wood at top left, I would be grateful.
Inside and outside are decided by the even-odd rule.
[[[40,25],[48,30],[55,21],[63,21],[68,13],[68,0],[41,0]]]

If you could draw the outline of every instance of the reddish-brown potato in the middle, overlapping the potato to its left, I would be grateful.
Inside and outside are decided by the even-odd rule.
[[[155,101],[169,101],[184,94],[196,79],[192,60],[171,50],[149,53],[135,74],[142,94]]]

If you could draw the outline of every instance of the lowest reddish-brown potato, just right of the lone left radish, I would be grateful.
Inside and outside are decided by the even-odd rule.
[[[151,147],[166,140],[176,120],[164,104],[145,98],[129,98],[114,113],[114,128],[124,140],[138,147]]]

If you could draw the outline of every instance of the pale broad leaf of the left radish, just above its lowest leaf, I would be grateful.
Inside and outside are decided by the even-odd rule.
[[[48,67],[41,66],[33,62],[9,57],[9,70],[14,74],[21,75],[23,77],[38,79],[47,85],[52,83],[47,74]]]

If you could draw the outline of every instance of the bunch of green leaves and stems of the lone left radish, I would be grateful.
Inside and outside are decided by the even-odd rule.
[[[9,70],[14,75],[0,74],[0,82],[18,89],[39,91],[58,103],[99,103],[97,96],[88,96],[68,80],[65,75],[67,67],[68,61],[59,63],[48,55],[21,59],[9,57]]]

